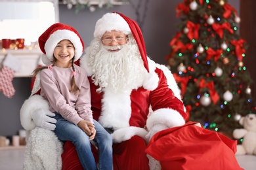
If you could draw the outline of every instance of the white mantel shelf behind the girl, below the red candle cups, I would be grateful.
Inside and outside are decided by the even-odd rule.
[[[20,59],[20,69],[16,71],[15,77],[31,77],[33,70],[41,63],[42,52],[39,48],[34,48],[33,50],[0,50],[0,63],[2,63],[7,54]]]

